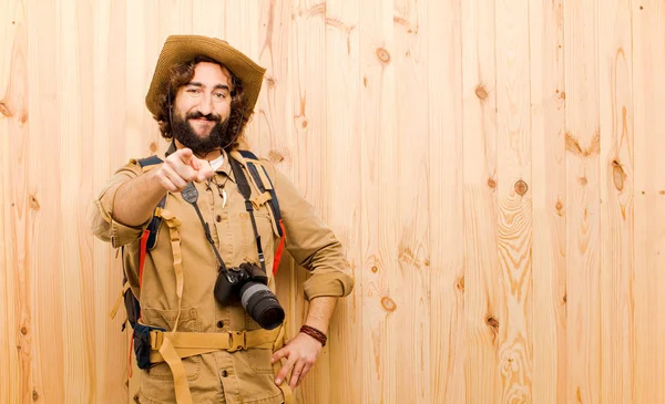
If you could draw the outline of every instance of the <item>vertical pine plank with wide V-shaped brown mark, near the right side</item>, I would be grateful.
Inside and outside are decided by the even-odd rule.
[[[601,222],[596,1],[564,1],[567,401],[601,400]],[[604,9],[604,7],[603,7]]]

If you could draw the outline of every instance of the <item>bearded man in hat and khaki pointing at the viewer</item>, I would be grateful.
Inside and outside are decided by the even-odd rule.
[[[127,312],[127,297],[140,303],[142,403],[290,402],[326,343],[337,298],[354,287],[313,207],[269,162],[241,149],[264,73],[225,41],[170,37],[146,105],[171,147],[117,169],[95,200],[94,234],[123,249]],[[282,242],[311,272],[305,325],[286,344],[272,294]],[[232,289],[239,278],[229,273],[241,272],[258,280]]]

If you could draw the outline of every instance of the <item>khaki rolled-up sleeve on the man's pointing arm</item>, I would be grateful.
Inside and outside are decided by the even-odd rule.
[[[114,248],[125,246],[139,238],[150,225],[150,219],[141,226],[127,226],[113,218],[113,205],[120,187],[141,175],[140,166],[130,162],[109,179],[106,186],[93,201],[92,232],[103,241],[111,241]]]

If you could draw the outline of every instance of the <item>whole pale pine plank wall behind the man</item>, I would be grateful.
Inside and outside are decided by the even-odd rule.
[[[132,401],[90,201],[187,32],[352,266],[300,403],[665,403],[665,0],[0,1],[2,403]]]

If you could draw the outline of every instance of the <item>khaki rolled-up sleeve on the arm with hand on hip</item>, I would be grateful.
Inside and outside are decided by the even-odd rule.
[[[294,184],[282,173],[274,173],[286,249],[299,266],[311,272],[303,284],[305,298],[348,296],[354,289],[354,278],[341,244]]]

